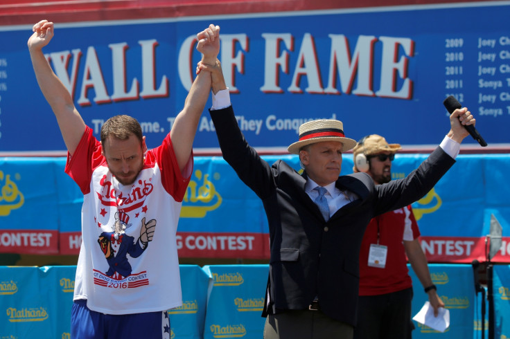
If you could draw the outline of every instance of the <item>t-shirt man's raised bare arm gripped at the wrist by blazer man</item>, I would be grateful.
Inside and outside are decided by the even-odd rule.
[[[220,52],[220,26],[209,25],[209,28],[197,34],[197,39],[197,50],[202,53],[202,62],[215,64],[216,57]],[[181,171],[184,170],[184,166],[191,156],[193,139],[210,90],[211,74],[206,72],[198,74],[186,97],[184,109],[175,118],[170,131],[170,138],[172,138],[174,152]]]

